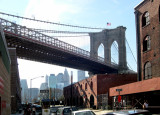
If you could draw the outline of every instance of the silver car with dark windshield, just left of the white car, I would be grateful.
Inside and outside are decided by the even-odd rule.
[[[76,107],[60,107],[57,110],[57,115],[70,115],[72,111],[77,111]]]

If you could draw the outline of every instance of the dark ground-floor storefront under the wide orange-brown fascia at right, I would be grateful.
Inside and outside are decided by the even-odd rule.
[[[118,89],[121,91],[117,91]],[[118,100],[119,95],[120,100]],[[160,112],[160,78],[112,87],[110,96],[113,99],[114,109],[142,109],[144,102],[147,102],[150,111]]]

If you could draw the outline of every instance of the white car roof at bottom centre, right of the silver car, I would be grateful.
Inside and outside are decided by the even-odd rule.
[[[91,110],[72,111],[72,115],[96,115]]]

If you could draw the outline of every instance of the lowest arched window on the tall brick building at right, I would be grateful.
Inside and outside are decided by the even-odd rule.
[[[144,65],[144,79],[149,79],[151,77],[152,77],[151,63],[146,62]]]

